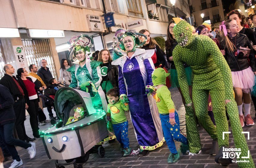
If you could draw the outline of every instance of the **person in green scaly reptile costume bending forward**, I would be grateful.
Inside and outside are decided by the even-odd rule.
[[[192,29],[188,22],[180,18],[173,18],[176,26],[173,28],[174,36],[179,45],[173,50],[173,61],[175,63],[180,88],[186,101],[186,130],[191,153],[197,154],[201,150],[200,137],[197,123],[192,108],[192,100],[189,96],[189,86],[183,62],[192,68],[193,89],[192,99],[195,114],[200,124],[210,134],[212,139],[217,139],[219,154],[215,161],[222,165],[231,163],[230,158],[223,157],[223,150],[228,149],[229,134],[228,122],[225,114],[225,106],[229,115],[235,147],[241,149],[241,155],[237,160],[241,168],[254,168],[254,162],[248,152],[248,146],[239,121],[238,109],[233,95],[233,84],[231,70],[221,54],[218,46],[207,36],[192,35]],[[207,113],[209,91],[211,92],[213,113],[217,128],[214,127]],[[224,137],[223,137],[224,135]]]

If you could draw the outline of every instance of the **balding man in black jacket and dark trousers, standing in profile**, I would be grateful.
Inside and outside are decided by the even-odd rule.
[[[26,134],[24,121],[26,120],[25,109],[28,108],[28,106],[24,99],[24,91],[20,87],[16,77],[13,76],[15,69],[11,64],[5,64],[4,71],[5,75],[0,80],[0,84],[9,89],[14,99],[13,108],[16,116],[15,128],[18,137],[23,141],[33,141],[35,138],[30,138]]]

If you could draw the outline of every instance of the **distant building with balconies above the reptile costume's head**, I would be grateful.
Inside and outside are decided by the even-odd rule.
[[[212,27],[218,27],[221,21],[225,20],[221,0],[190,0],[190,9],[195,18],[195,26],[200,26],[204,21],[210,20]]]

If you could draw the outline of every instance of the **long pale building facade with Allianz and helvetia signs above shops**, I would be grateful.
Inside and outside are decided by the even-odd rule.
[[[107,13],[114,13],[110,32],[103,3]],[[178,17],[190,16],[187,0],[176,0],[174,7]],[[92,52],[111,49],[117,29],[148,29],[152,37],[166,36],[174,16],[169,0],[0,0],[0,77],[6,63],[17,70],[30,64],[40,67],[40,60],[46,59],[58,78],[72,35],[92,36]]]

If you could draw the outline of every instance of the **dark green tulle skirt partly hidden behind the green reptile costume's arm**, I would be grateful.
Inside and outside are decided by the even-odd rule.
[[[192,85],[192,69],[191,67],[186,67],[185,68],[186,76],[187,76],[187,81],[189,86]],[[171,75],[171,88],[176,88],[180,87],[179,82],[178,82],[178,74],[176,69],[169,69],[169,73]]]

